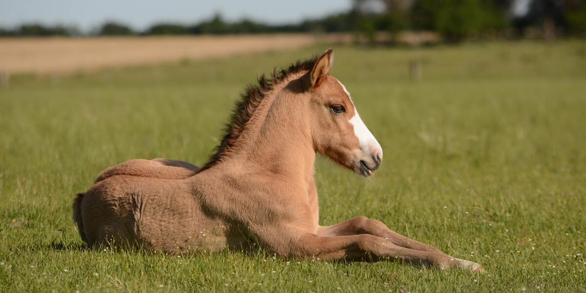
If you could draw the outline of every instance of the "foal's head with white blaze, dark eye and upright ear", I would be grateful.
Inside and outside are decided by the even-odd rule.
[[[331,65],[329,49],[301,77],[309,96],[314,148],[346,168],[370,176],[383,160],[383,149],[360,119],[346,87],[329,75]]]

